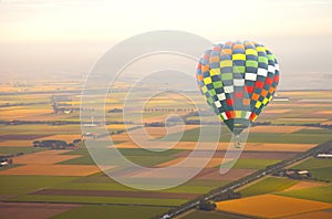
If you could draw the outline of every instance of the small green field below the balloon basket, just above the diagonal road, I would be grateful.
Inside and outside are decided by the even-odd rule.
[[[279,159],[238,159],[232,168],[238,169],[264,169],[267,166],[280,161]],[[225,164],[227,165],[227,163]],[[219,166],[218,166],[219,167]]]

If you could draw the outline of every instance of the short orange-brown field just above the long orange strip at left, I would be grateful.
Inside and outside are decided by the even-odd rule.
[[[80,155],[61,155],[70,150],[44,150],[29,155],[22,155],[13,158],[14,164],[29,164],[29,165],[51,165],[68,159],[80,157]]]

